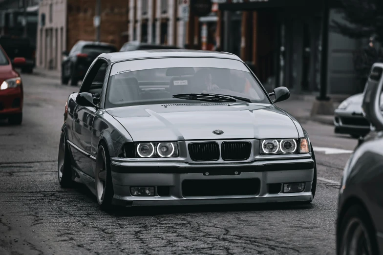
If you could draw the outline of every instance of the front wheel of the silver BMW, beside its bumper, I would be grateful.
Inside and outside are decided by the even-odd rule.
[[[110,170],[110,156],[105,143],[101,143],[97,150],[94,176],[97,202],[102,210],[111,210],[114,191],[112,173]]]

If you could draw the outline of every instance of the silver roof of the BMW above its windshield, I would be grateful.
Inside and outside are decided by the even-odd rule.
[[[99,56],[110,63],[146,58],[172,58],[172,57],[200,57],[200,58],[224,58],[242,61],[238,56],[228,52],[184,50],[184,49],[160,49],[160,50],[134,50],[103,53]]]

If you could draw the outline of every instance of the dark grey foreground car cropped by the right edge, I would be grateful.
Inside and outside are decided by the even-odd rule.
[[[341,181],[338,255],[383,254],[383,64],[374,64],[363,94],[363,116],[373,130],[350,156]]]

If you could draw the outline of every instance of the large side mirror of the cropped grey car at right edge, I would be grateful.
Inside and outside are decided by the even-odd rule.
[[[376,131],[383,130],[383,114],[380,107],[383,89],[383,63],[372,65],[371,73],[363,92],[363,116],[375,127]]]

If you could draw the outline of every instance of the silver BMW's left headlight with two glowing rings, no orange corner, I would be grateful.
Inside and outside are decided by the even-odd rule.
[[[176,142],[135,143],[137,158],[170,158],[178,157]]]

